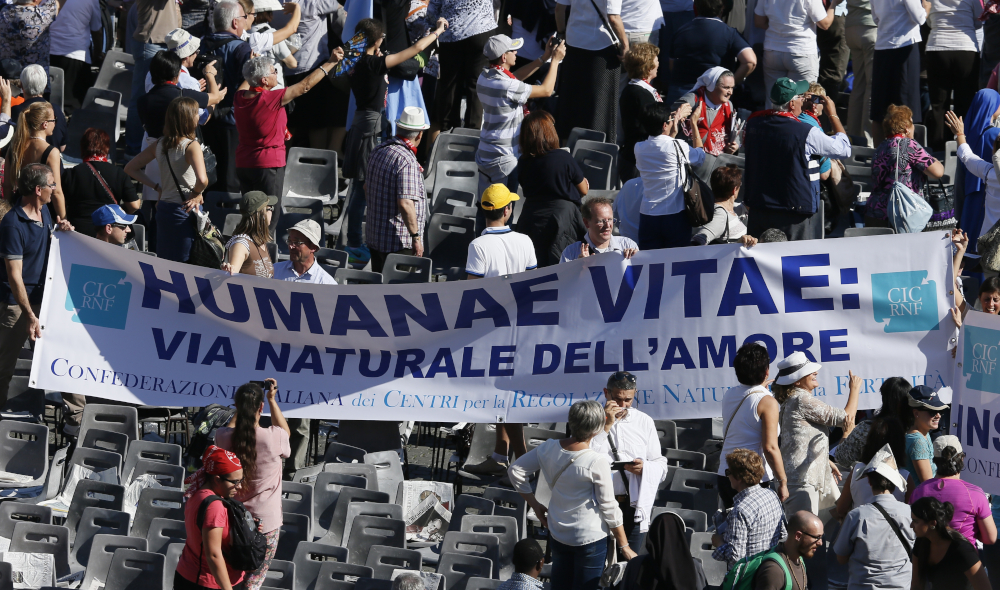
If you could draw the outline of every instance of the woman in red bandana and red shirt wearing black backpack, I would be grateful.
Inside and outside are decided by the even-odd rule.
[[[243,466],[236,455],[210,445],[202,456],[202,468],[184,480],[189,484],[184,504],[187,541],[177,562],[174,590],[233,590],[244,573],[226,562],[223,550],[229,546],[229,511],[222,502],[205,508],[198,526],[198,509],[209,496],[232,498],[243,482]]]

